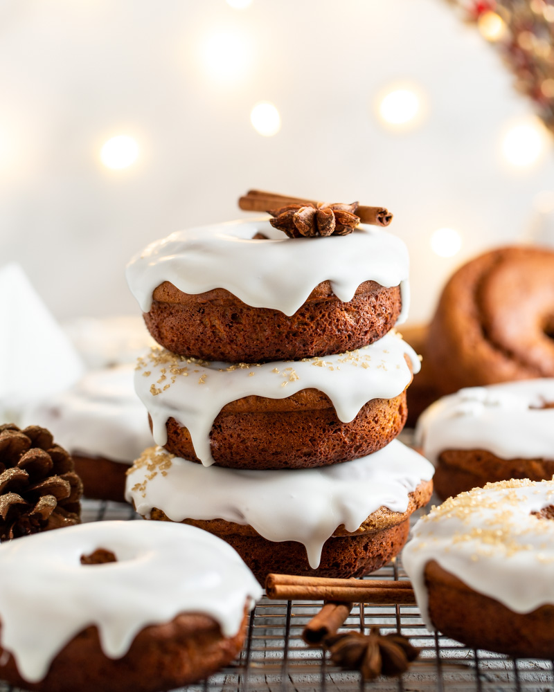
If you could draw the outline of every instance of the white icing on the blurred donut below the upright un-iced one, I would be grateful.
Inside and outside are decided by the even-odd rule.
[[[485,449],[503,459],[554,459],[554,378],[472,387],[423,413],[416,444],[434,464],[446,449]]]

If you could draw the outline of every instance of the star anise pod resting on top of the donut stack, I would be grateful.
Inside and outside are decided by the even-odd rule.
[[[348,235],[359,224],[355,215],[357,202],[352,204],[288,204],[269,210],[273,219],[269,223],[282,230],[289,238],[314,237],[316,235]]]

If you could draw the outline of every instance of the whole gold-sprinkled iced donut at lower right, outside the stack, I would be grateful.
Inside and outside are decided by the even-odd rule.
[[[402,562],[428,628],[474,648],[554,658],[554,480],[450,498],[418,521]]]

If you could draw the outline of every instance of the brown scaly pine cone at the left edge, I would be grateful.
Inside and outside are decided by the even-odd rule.
[[[0,542],[80,522],[82,482],[45,428],[0,426]]]

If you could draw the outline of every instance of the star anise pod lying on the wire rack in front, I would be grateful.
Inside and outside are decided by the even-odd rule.
[[[406,637],[394,633],[380,635],[378,627],[372,627],[368,635],[362,632],[333,635],[324,644],[334,664],[360,671],[364,680],[374,680],[379,675],[402,675],[420,653]]]

